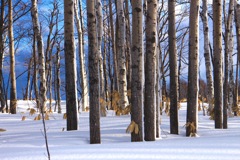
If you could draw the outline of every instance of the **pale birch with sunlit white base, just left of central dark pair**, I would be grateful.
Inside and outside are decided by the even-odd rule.
[[[127,98],[127,70],[126,70],[126,57],[125,57],[125,16],[123,10],[123,0],[117,1],[117,15],[119,26],[118,38],[118,78],[119,78],[119,95],[120,95],[120,108],[124,109],[128,105]]]

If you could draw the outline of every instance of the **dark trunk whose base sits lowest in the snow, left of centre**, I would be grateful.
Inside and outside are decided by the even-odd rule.
[[[95,0],[87,1],[88,58],[90,86],[90,143],[101,143],[100,137],[100,86],[99,54],[97,47]]]

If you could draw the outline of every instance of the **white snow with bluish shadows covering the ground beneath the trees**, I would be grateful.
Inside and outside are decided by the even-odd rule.
[[[37,114],[30,116],[27,111],[33,106],[18,101],[18,114],[0,113],[0,128],[6,129],[0,132],[1,160],[47,160],[42,121],[34,121]],[[46,121],[51,160],[240,160],[239,117],[229,118],[228,129],[214,129],[214,121],[200,111],[198,137],[185,137],[186,104],[182,106],[180,134],[169,134],[169,117],[163,114],[161,138],[154,142],[131,143],[125,132],[130,115],[119,117],[108,111],[101,118],[102,143],[89,144],[88,112],[79,115],[78,131],[66,131],[63,114],[53,113]]]

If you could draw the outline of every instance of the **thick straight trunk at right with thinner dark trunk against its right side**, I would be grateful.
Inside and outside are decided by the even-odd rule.
[[[222,1],[213,1],[214,118],[215,128],[223,125]]]

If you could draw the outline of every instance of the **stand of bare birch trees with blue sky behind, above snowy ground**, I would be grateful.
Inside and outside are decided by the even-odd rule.
[[[0,117],[25,121],[19,106],[34,104],[26,109],[42,119],[47,149],[52,114],[67,131],[87,114],[90,144],[101,143],[101,119],[112,112],[129,116],[131,142],[160,138],[162,117],[179,135],[183,108],[186,137],[198,137],[199,112],[215,129],[239,120],[237,0],[0,4]]]

